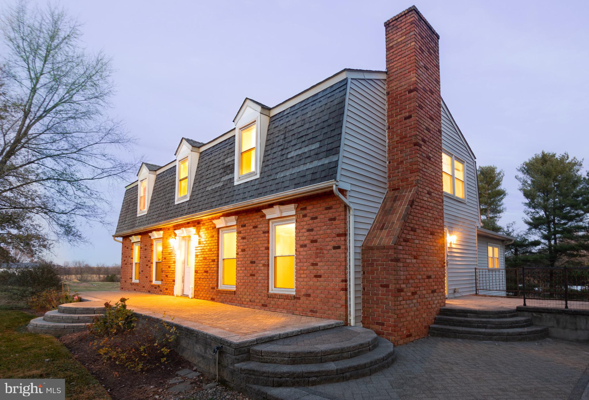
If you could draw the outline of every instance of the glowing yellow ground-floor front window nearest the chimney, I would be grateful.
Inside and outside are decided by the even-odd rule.
[[[294,222],[274,224],[275,289],[294,289]]]

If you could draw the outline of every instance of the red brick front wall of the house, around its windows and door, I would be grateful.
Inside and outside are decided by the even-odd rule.
[[[131,241],[123,238],[121,289],[173,295],[175,261],[170,238],[174,229],[194,227],[196,247],[194,297],[227,304],[347,321],[347,214],[340,199],[320,194],[279,204],[297,204],[296,276],[294,295],[269,294],[269,223],[264,208],[230,212],[237,215],[237,285],[235,291],[217,289],[219,229],[213,219],[184,222],[141,232],[140,279],[131,282]],[[277,203],[278,204],[278,203]],[[149,232],[163,231],[162,284],[151,284],[152,241]]]

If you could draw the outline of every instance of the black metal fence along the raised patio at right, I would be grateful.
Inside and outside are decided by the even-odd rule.
[[[589,267],[475,268],[477,294],[521,297],[524,305],[589,309]]]

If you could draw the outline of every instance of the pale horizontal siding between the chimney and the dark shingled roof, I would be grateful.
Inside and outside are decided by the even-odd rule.
[[[383,79],[349,79],[339,180],[354,208],[356,325],[362,322],[360,249],[386,193],[386,90]]]

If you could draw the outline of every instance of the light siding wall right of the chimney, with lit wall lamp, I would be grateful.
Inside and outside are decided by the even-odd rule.
[[[448,234],[456,235],[456,244],[448,246],[446,270],[448,296],[454,297],[475,293],[479,223],[477,165],[443,102],[442,148],[446,154],[464,162],[465,170],[465,199],[444,195],[444,224]],[[487,255],[487,248],[484,254]]]

